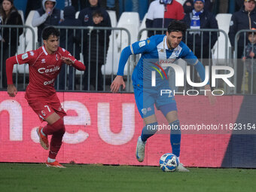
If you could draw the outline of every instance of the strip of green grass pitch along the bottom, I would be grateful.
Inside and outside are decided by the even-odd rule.
[[[190,168],[162,172],[154,166],[0,163],[0,191],[255,191],[256,169]]]

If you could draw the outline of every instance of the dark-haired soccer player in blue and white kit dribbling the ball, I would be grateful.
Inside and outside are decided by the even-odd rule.
[[[117,93],[120,86],[125,83],[123,81],[123,69],[127,59],[131,54],[142,53],[141,58],[133,71],[133,88],[136,99],[136,105],[139,109],[145,127],[142,129],[142,135],[139,136],[136,147],[136,158],[139,162],[144,160],[145,156],[145,144],[147,139],[157,132],[157,117],[154,113],[154,104],[157,109],[160,110],[168,120],[169,127],[175,127],[171,130],[170,142],[172,145],[172,153],[178,157],[180,156],[181,145],[181,129],[179,125],[177,107],[174,96],[169,94],[160,95],[160,90],[169,90],[168,80],[161,78],[160,74],[156,75],[156,83],[152,86],[151,72],[152,69],[159,69],[161,73],[166,75],[168,67],[163,69],[161,63],[175,62],[176,59],[186,59],[187,63],[194,66],[200,75],[202,81],[205,80],[205,69],[203,64],[194,56],[194,53],[187,47],[184,42],[181,41],[184,32],[186,31],[186,25],[181,21],[173,20],[167,29],[166,35],[154,35],[145,41],[137,41],[122,50],[117,77],[111,84],[111,91]],[[156,60],[158,62],[156,62]],[[158,63],[158,64],[157,64]],[[157,69],[159,71],[159,69]],[[160,72],[160,71],[159,71]],[[211,90],[209,84],[206,84],[205,90]],[[209,97],[211,104],[215,103],[215,97],[211,91],[206,91],[206,96]],[[178,129],[177,129],[178,127]],[[177,170],[179,172],[189,172],[184,168],[182,163],[178,163]]]

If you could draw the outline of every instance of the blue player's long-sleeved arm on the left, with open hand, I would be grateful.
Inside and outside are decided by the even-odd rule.
[[[123,81],[123,71],[124,67],[126,65],[127,60],[129,59],[129,56],[131,54],[139,54],[147,52],[151,49],[149,43],[151,41],[149,39],[146,39],[144,41],[137,41],[130,46],[125,47],[122,50],[122,53],[120,55],[119,64],[118,64],[118,71],[117,71],[117,77],[114,78],[114,81],[111,84],[111,92],[117,93],[120,86],[123,85],[123,90],[125,89],[125,83]]]

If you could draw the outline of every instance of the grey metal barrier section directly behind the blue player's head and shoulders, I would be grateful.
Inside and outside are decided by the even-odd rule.
[[[138,34],[138,41],[141,41],[141,40],[147,38],[146,32],[148,32],[148,31],[154,31],[154,35],[166,33],[166,29],[159,29],[159,28],[142,29],[139,31],[139,34]],[[192,34],[193,39],[188,38],[189,34]],[[200,45],[196,44],[196,38],[198,38],[198,37],[196,37],[197,34],[199,34],[200,38],[201,38]],[[212,44],[212,35],[213,34],[216,35],[217,41],[215,42],[214,46],[212,47],[211,44]],[[207,43],[207,46],[209,46],[208,47],[209,53],[206,54],[206,55],[208,55],[207,57],[205,57],[203,54],[203,50],[206,50],[206,48],[207,48],[203,44],[204,35],[209,35],[209,40]],[[221,39],[224,39],[224,41],[221,41],[219,39],[220,37],[221,37]],[[190,38],[191,38],[191,35],[190,35]],[[211,66],[230,66],[230,61],[228,59],[228,36],[227,36],[226,32],[224,32],[224,30],[222,30],[222,29],[187,29],[187,32],[184,35],[183,41],[185,44],[187,44],[188,47],[190,47],[190,49],[195,53],[195,55],[198,57],[198,59],[200,59],[201,62],[203,62],[203,59],[204,59],[203,64],[205,66],[209,66],[210,74],[212,73]],[[188,41],[190,43],[188,43]],[[191,41],[192,41],[192,43],[191,43]],[[200,53],[196,53],[197,49],[200,50]],[[223,49],[224,49],[224,51],[223,51]],[[136,58],[136,60],[138,60],[138,59],[139,59],[139,57]],[[184,66],[183,69],[186,69],[187,62],[182,62],[180,60],[181,59],[178,59],[178,63]],[[192,72],[193,72],[192,81],[195,82],[195,77],[197,75],[195,74],[194,69]],[[232,90],[230,89],[230,87],[227,87],[226,84],[222,84],[222,83],[223,82],[219,82],[217,80],[216,89],[224,90],[225,94],[232,93]],[[184,89],[186,90],[186,88],[187,87],[185,85]]]

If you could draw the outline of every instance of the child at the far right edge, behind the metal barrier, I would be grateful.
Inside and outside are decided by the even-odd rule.
[[[242,54],[242,60],[245,62],[248,72],[249,93],[256,94],[256,29],[253,28],[253,30],[255,31],[248,32],[248,44],[245,46],[245,50]]]

